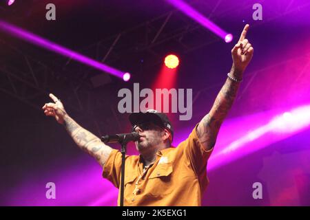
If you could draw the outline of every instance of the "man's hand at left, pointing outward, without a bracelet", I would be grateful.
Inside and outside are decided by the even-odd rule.
[[[59,124],[63,124],[63,118],[67,115],[65,108],[63,107],[63,103],[61,103],[61,100],[53,94],[50,94],[50,98],[52,98],[54,103],[45,103],[42,109],[44,110],[45,115],[53,116]]]

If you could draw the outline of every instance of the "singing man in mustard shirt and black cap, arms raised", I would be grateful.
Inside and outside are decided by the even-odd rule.
[[[245,25],[238,43],[231,50],[233,64],[211,111],[194,127],[189,137],[176,148],[171,146],[174,129],[164,113],[149,110],[130,114],[132,128],[140,139],[135,142],[140,155],[126,156],[125,206],[200,206],[209,183],[207,160],[216,143],[220,125],[236,98],[242,74],[251,61],[254,48],[245,39]],[[103,177],[117,188],[121,185],[121,153],[83,129],[53,94],[43,106],[45,115],[63,124],[74,142],[96,158]],[[120,197],[118,196],[118,204]]]

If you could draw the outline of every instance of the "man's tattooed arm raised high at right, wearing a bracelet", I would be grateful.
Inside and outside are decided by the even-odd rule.
[[[249,25],[245,25],[238,43],[231,50],[233,65],[230,74],[231,77],[238,80],[242,79],[242,74],[251,61],[254,52],[251,43],[245,39],[247,30],[249,30]],[[231,109],[237,95],[239,84],[227,78],[224,86],[220,89],[220,93],[216,97],[211,111],[199,122],[196,131],[205,151],[210,150],[215,145],[220,125],[226,118],[229,109]]]

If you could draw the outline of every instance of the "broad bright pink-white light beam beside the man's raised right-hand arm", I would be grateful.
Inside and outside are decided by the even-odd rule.
[[[209,168],[223,166],[249,153],[254,153],[309,126],[310,104],[284,113],[268,112],[247,116],[230,122],[228,126],[223,124],[216,149],[208,162]],[[238,133],[231,135],[230,131],[233,127]]]

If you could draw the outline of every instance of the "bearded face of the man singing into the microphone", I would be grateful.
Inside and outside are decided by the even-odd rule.
[[[163,142],[163,129],[152,122],[136,124],[136,126],[134,126],[134,131],[141,135],[140,140],[135,142],[138,151],[154,148]]]

